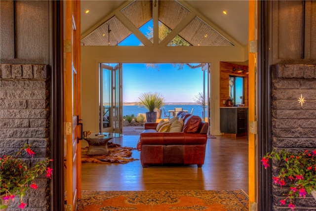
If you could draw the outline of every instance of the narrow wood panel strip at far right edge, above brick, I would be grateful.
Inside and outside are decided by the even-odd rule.
[[[316,59],[316,1],[310,1],[310,58]],[[305,27],[306,28],[306,27]]]

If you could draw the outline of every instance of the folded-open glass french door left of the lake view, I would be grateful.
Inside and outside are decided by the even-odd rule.
[[[122,133],[122,64],[100,64],[100,132]]]

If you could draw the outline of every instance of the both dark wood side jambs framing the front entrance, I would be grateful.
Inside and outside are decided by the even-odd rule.
[[[270,87],[270,68],[269,68],[269,2],[258,0],[257,19],[258,19],[258,41],[257,41],[257,121],[262,123],[258,125],[257,136],[257,200],[258,211],[270,210],[272,207],[271,197],[271,172],[261,167],[260,158],[271,149],[271,87]],[[51,210],[64,210],[64,145],[63,134],[63,2],[52,1],[52,67],[51,67],[51,157],[54,160]],[[212,63],[212,62],[210,62]],[[265,117],[265,118],[263,118]],[[268,140],[264,143],[262,140]],[[261,167],[261,168],[260,168]],[[264,185],[265,184],[265,185]]]

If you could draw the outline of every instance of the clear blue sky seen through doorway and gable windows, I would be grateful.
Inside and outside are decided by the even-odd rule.
[[[146,35],[149,21],[140,28]],[[131,35],[119,45],[140,45]],[[194,65],[194,64],[191,64]],[[182,70],[172,64],[159,64],[159,68],[147,68],[146,64],[123,64],[123,102],[137,102],[144,92],[158,92],[165,102],[194,102],[195,95],[203,92],[203,71],[184,65]]]

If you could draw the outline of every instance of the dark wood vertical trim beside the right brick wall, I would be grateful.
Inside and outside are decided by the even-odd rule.
[[[272,2],[258,1],[258,210],[272,210],[271,170],[264,169],[261,158],[272,149],[272,87],[271,87],[271,47],[272,47]],[[259,123],[261,123],[259,125]]]

